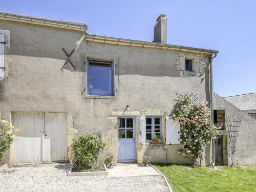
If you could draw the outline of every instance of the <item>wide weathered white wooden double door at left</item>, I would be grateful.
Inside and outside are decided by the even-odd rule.
[[[67,114],[14,112],[13,164],[67,160]]]

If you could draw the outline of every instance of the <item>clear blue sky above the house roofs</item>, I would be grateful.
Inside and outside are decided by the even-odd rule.
[[[256,1],[1,1],[0,11],[87,23],[90,33],[153,40],[160,13],[169,44],[219,50],[214,90],[221,96],[256,92]]]

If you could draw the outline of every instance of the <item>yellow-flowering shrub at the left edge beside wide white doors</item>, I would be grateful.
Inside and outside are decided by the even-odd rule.
[[[16,129],[17,131],[18,129]],[[6,120],[0,121],[0,161],[3,159],[4,153],[8,150],[14,138],[14,127]]]

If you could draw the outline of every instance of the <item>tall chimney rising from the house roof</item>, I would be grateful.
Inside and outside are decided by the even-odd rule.
[[[154,27],[154,42],[167,43],[167,17],[164,14],[160,14],[157,17],[156,25]]]

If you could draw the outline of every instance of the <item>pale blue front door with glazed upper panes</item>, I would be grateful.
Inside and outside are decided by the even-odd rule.
[[[135,127],[134,117],[118,118],[118,162],[136,161]]]

